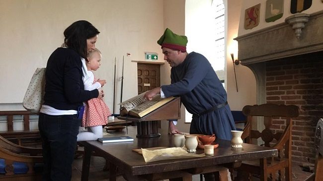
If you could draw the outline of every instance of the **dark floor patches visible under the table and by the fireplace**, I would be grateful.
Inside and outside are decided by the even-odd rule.
[[[89,181],[107,181],[109,173],[107,171],[102,171],[105,165],[105,160],[101,157],[91,158],[90,171],[89,171]],[[72,181],[81,180],[81,171],[82,171],[82,158],[76,158],[73,162],[72,167]],[[301,167],[298,164],[293,163],[293,180],[292,181],[304,181],[308,178],[311,173],[302,171]],[[117,177],[117,181],[125,181],[122,176]],[[193,176],[193,181],[200,181],[199,175]],[[258,181],[258,179],[253,179],[253,181]]]

